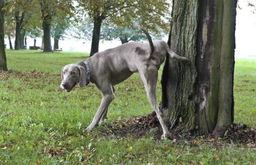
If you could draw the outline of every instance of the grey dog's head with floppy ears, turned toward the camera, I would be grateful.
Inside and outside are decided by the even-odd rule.
[[[84,67],[78,64],[69,64],[61,70],[61,84],[60,87],[66,92],[70,92],[77,83],[80,87],[86,84],[87,73]]]

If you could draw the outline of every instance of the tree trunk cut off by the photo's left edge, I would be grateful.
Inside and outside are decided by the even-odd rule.
[[[0,70],[8,70],[6,64],[6,54],[5,54],[5,10],[2,10],[5,6],[5,1],[0,0]]]

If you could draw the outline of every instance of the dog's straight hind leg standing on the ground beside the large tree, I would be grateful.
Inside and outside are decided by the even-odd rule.
[[[141,76],[141,79],[144,83],[144,87],[146,88],[147,92],[147,98],[151,104],[151,106],[154,108],[156,112],[156,116],[158,117],[158,120],[160,122],[160,125],[163,129],[163,136],[162,138],[166,139],[170,135],[170,132],[167,129],[166,124],[163,121],[162,118],[162,112],[160,112],[160,109],[158,107],[158,103],[156,101],[156,82],[158,80],[158,68],[156,66],[142,66],[139,70],[139,75]]]

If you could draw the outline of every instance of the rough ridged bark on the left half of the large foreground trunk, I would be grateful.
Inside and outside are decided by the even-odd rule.
[[[167,58],[163,71],[162,111],[172,129],[188,131],[195,128],[195,102],[189,101],[196,81],[197,1],[173,1],[170,41],[171,49],[185,56],[191,65],[184,66]]]

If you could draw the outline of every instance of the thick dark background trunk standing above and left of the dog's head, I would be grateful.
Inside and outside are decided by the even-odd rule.
[[[44,52],[52,52],[51,44],[51,18],[44,18],[43,20],[44,31]]]

